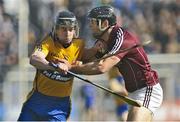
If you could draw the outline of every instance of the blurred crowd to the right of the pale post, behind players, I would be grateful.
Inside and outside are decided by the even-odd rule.
[[[151,40],[145,47],[148,53],[180,52],[179,0],[29,0],[30,39],[29,52],[42,35],[48,33],[55,13],[67,9],[75,13],[80,25],[80,37],[93,40],[88,29],[87,13],[95,6],[111,5],[118,16],[118,24],[130,29],[139,39]]]

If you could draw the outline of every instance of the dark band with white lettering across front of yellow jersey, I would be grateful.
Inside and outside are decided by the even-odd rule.
[[[46,77],[52,79],[52,80],[56,80],[56,81],[60,81],[60,82],[66,82],[71,80],[73,77],[70,75],[63,75],[57,71],[43,71],[42,72],[43,75],[45,75]]]

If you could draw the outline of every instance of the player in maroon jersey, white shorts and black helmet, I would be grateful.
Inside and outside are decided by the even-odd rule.
[[[89,14],[89,26],[97,39],[99,49],[96,58],[115,54],[119,50],[140,44],[126,29],[116,24],[116,15],[110,6],[93,8]],[[132,106],[127,121],[152,121],[154,112],[160,107],[163,91],[156,71],[151,69],[146,52],[137,47],[111,56],[99,62],[71,66],[70,70],[84,75],[102,74],[117,67],[125,80],[129,97],[140,102],[142,107]]]

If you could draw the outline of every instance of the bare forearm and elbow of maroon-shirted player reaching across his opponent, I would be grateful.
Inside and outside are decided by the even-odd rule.
[[[82,65],[72,65],[70,70],[75,73],[84,75],[102,74],[115,66],[119,61],[120,59],[118,57],[112,56],[99,62],[90,62]]]

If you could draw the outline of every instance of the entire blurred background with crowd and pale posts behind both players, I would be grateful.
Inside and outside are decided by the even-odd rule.
[[[80,37],[90,47],[93,38],[86,15],[99,5],[113,6],[118,24],[141,41],[152,41],[144,48],[164,90],[154,121],[180,120],[180,0],[0,0],[0,120],[17,120],[35,74],[28,57],[35,43],[51,31],[56,12],[75,13]],[[108,87],[106,74],[83,77]],[[84,86],[92,95],[92,117],[84,108]],[[112,96],[75,79],[70,120],[116,121]]]

